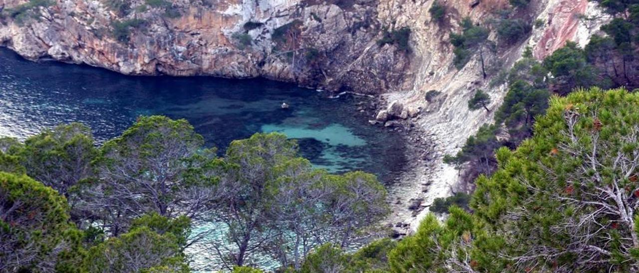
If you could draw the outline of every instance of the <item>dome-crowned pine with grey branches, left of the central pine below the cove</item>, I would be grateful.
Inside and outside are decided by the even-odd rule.
[[[102,218],[114,235],[139,214],[156,212],[169,218],[201,215],[204,204],[191,195],[213,181],[193,172],[214,154],[203,145],[204,138],[184,119],[139,117],[100,149],[95,160],[100,179],[81,189],[82,195],[93,201],[86,210]]]

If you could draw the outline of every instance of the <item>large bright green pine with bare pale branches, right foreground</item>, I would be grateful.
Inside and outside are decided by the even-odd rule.
[[[512,270],[636,266],[632,251],[622,250],[634,249],[636,240],[620,239],[636,238],[636,212],[624,221],[612,211],[637,202],[636,166],[618,162],[635,158],[638,106],[639,96],[624,90],[554,97],[530,140],[497,152],[499,169],[478,179],[472,207],[504,236],[508,247],[501,252],[513,257]],[[612,214],[600,213],[606,207]]]

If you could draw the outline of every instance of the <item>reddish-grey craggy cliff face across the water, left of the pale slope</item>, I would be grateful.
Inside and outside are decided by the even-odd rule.
[[[0,9],[27,2],[5,0]],[[389,27],[376,0],[52,2],[3,13],[0,45],[27,59],[125,74],[266,77],[369,94],[400,89],[410,65],[403,50],[376,43]]]

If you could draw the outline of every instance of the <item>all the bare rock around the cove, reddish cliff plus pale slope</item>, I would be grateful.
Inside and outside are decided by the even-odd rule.
[[[15,9],[27,2],[4,0],[3,7]],[[113,8],[123,2],[130,5]],[[438,0],[446,7],[442,20],[431,18],[433,3],[57,0],[37,8],[29,18],[1,19],[0,43],[28,59],[84,63],[125,74],[261,76],[331,91],[383,94],[383,99],[401,103],[402,110],[396,113],[396,107],[388,107],[371,117],[371,123],[403,120],[419,109],[410,122],[435,142],[435,166],[417,164],[415,174],[392,190],[403,200],[397,203],[422,200],[424,207],[447,195],[457,180],[457,171],[443,165],[443,154],[455,153],[492,119],[495,111],[468,110],[475,90],[486,90],[493,101],[488,108],[497,108],[505,86],[489,87],[489,81],[512,66],[523,48],[530,45],[541,59],[568,40],[583,46],[608,20],[588,0],[533,0],[527,10],[516,12],[538,26],[517,43],[500,45],[487,55],[491,71],[484,78],[477,58],[461,70],[454,67],[449,36],[461,29],[464,17],[486,22],[508,8],[509,1]],[[585,22],[578,15],[596,20]],[[406,34],[408,44],[402,41]],[[497,40],[495,34],[489,39]],[[427,193],[415,190],[423,185],[429,187]],[[406,223],[420,219],[409,210],[396,214]]]

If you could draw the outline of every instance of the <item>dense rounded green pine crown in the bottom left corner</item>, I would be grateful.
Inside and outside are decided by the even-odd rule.
[[[0,271],[53,271],[72,258],[66,199],[26,175],[0,172]]]

